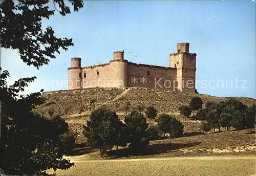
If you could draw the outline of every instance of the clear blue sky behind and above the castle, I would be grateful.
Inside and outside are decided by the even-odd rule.
[[[189,42],[190,53],[197,53],[199,93],[256,96],[252,1],[84,1],[79,12],[56,13],[43,26],[51,26],[58,37],[73,38],[74,47],[39,70],[23,63],[16,51],[1,49],[1,67],[11,74],[8,83],[37,77],[25,93],[67,90],[71,57],[81,57],[86,67],[126,49],[129,61],[168,67],[176,43]]]

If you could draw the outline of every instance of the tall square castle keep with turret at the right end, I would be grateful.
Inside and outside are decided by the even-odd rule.
[[[177,53],[170,54],[170,67],[177,69],[178,90],[195,93],[196,53],[189,53],[189,43],[177,43]]]

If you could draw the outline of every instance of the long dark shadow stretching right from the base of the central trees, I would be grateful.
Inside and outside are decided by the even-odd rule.
[[[106,152],[106,155],[110,157],[110,159],[116,159],[121,157],[131,157],[131,156],[145,156],[145,155],[157,155],[160,153],[167,153],[169,150],[176,150],[186,147],[192,147],[201,144],[201,142],[193,142],[187,144],[180,143],[171,143],[171,144],[153,144],[148,145],[147,151],[138,153],[133,152],[131,148],[122,148],[119,150],[110,150]]]

